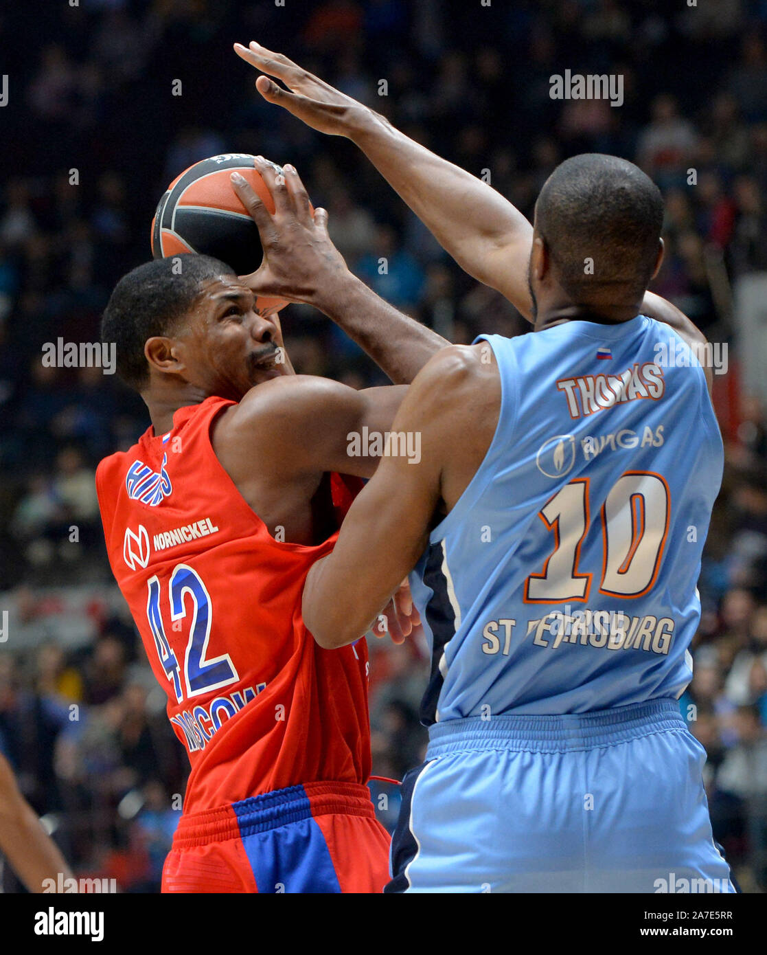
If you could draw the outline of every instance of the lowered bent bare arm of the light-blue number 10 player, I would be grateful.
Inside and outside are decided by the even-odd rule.
[[[476,346],[452,346],[408,389],[392,432],[411,435],[420,454],[382,457],[332,554],[307,577],[303,620],[321,647],[353,643],[370,628],[424,552],[441,501],[449,506],[473,476],[488,443],[478,414],[487,421],[488,402],[500,407],[486,375]]]

